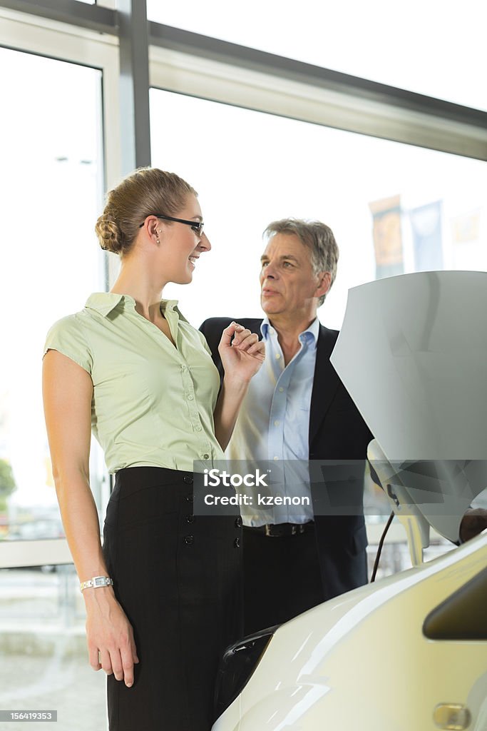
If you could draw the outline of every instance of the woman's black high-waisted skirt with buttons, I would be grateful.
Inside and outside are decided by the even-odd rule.
[[[193,516],[193,476],[118,471],[104,525],[134,628],[134,685],[107,678],[110,731],[209,731],[218,661],[242,636],[241,521]]]

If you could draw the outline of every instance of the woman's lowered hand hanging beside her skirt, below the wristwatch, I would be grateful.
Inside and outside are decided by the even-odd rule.
[[[88,588],[86,635],[93,670],[115,675],[128,688],[134,684],[134,663],[139,662],[134,632],[111,588]]]

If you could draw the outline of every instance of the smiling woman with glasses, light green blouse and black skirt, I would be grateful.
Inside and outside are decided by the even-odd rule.
[[[240,521],[192,515],[191,471],[193,460],[223,459],[264,345],[236,323],[223,331],[218,395],[203,336],[175,300],[161,300],[169,281],[191,282],[211,248],[196,192],[177,175],[129,175],[108,194],[96,233],[120,254],[120,274],[53,325],[43,368],[90,663],[108,675],[111,731],[207,731],[218,657],[240,630]],[[91,429],[115,473],[103,550]]]

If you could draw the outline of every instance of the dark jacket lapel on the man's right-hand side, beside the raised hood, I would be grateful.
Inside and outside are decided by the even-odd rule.
[[[310,436],[309,446],[326,417],[331,400],[340,385],[340,379],[330,363],[331,352],[337,341],[335,331],[320,325],[318,344],[316,346],[315,375],[312,385],[310,406]]]

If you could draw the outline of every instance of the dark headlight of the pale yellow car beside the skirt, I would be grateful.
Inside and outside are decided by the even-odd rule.
[[[247,685],[277,627],[267,627],[226,648],[215,687],[215,719],[234,702]]]

